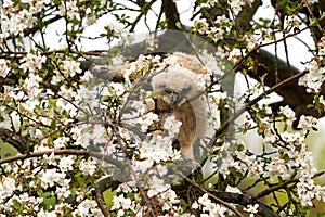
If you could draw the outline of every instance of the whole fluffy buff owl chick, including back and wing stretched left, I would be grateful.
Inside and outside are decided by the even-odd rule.
[[[206,71],[195,56],[185,53],[176,52],[165,60],[173,66],[148,76],[148,84],[143,84],[151,86],[151,90],[156,92],[156,104],[148,110],[158,113],[161,126],[166,115],[173,115],[182,123],[178,137],[180,150],[184,158],[193,159],[193,144],[204,138],[207,130],[207,101],[203,94],[204,88],[198,85],[198,75],[206,74]],[[142,64],[141,61],[133,63]],[[107,78],[113,81],[123,80],[125,72],[130,65],[130,62],[126,62],[122,65],[109,66]],[[93,68],[96,74],[102,71],[102,66]],[[161,130],[154,130],[153,135],[160,132]]]

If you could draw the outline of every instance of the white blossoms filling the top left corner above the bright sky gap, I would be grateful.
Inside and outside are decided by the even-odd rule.
[[[56,9],[66,22],[74,21],[82,23],[81,25],[92,25],[96,18],[105,14],[105,9],[114,8],[114,2],[101,0],[99,7],[93,7],[87,1],[20,1],[18,3],[5,0],[1,4],[1,33],[0,43],[8,37],[24,37],[24,34],[38,23],[37,17],[42,17],[41,23],[47,23],[53,18],[53,9]],[[55,13],[54,13],[55,14]],[[82,15],[80,15],[82,14]],[[68,29],[74,30],[73,25],[67,25]],[[116,26],[114,26],[116,27]],[[118,29],[118,28],[116,28]],[[122,29],[122,28],[119,28]],[[63,40],[64,37],[62,38]]]

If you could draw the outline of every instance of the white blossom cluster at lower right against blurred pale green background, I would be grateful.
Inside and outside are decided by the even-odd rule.
[[[288,106],[281,107],[280,115],[285,118],[287,125],[291,125],[296,119],[295,112]],[[272,118],[270,113],[260,118],[258,131],[263,136],[264,145],[271,144],[273,146],[269,148],[269,152],[272,152],[274,148],[280,152],[272,154],[269,158],[270,162],[253,155],[249,159],[248,156],[244,155],[242,161],[248,165],[249,174],[253,177],[270,178],[272,182],[276,182],[277,179],[288,180],[292,176],[297,176],[299,179],[297,193],[302,206],[312,206],[313,200],[324,202],[325,188],[313,180],[316,168],[312,153],[308,151],[308,144],[304,141],[308,132],[316,128],[317,119],[302,115],[298,123],[298,128],[302,129],[301,131],[280,133],[272,124]]]

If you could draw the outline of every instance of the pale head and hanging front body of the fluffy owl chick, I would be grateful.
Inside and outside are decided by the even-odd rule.
[[[195,73],[184,67],[168,68],[152,78],[159,116],[174,115],[182,123],[178,141],[181,153],[193,159],[193,144],[207,130],[206,99]],[[160,112],[159,112],[160,111]]]

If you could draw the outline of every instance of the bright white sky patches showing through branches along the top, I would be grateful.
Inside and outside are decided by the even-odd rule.
[[[122,2],[128,2],[127,0],[121,0],[120,3]],[[193,21],[190,21],[192,17],[193,13],[193,0],[178,0],[177,1],[178,10],[181,14],[181,21],[184,25],[191,26],[193,24]],[[158,11],[160,8],[160,3],[156,2],[153,5],[155,11]],[[121,12],[123,13],[123,12]],[[152,12],[151,12],[152,13]],[[136,17],[136,13],[128,12],[128,15],[131,17]],[[153,15],[153,14],[152,14]],[[270,0],[263,0],[263,5],[259,8],[255,15],[255,20],[258,20],[259,17],[263,18],[270,18],[272,20],[274,16],[274,9],[271,5]],[[151,16],[154,17],[154,16]],[[108,24],[115,24],[118,25],[117,22],[114,21],[115,18],[113,16],[105,16],[100,18],[96,24],[86,28],[84,35],[86,36],[98,36],[101,33],[104,33],[103,26],[108,25]],[[154,20],[153,20],[154,21]],[[154,26],[155,22],[148,22],[150,25]],[[56,48],[60,47],[58,39],[56,37],[57,34],[64,31],[64,22],[56,22],[55,24],[51,25],[47,29],[47,43],[50,46],[50,48]],[[143,21],[139,22],[139,26],[135,28],[135,34],[142,34],[142,33],[147,33],[147,28],[144,24]],[[282,36],[278,35],[278,38]],[[302,34],[299,35],[299,38],[303,40],[307,44],[309,44],[311,48],[313,48],[313,41],[312,38],[310,37],[310,33],[308,30],[303,31]],[[61,42],[62,43],[62,42]],[[82,44],[82,50],[102,50],[103,49],[103,43],[105,44],[105,40],[89,40],[84,39],[81,44]],[[301,43],[297,38],[289,38],[287,40],[288,44],[288,53],[289,53],[289,61],[292,65],[298,67],[299,69],[303,69],[304,66],[301,64],[302,62],[309,61],[312,55],[308,52],[308,48]],[[264,48],[265,50],[273,52],[274,53],[274,47],[269,46]],[[285,59],[285,50],[283,43],[277,44],[277,53],[281,59]]]

